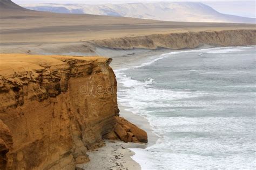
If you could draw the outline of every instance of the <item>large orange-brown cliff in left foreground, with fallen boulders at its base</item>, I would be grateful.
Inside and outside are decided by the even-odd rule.
[[[0,54],[0,169],[74,169],[103,137],[146,143],[118,115],[110,62]]]

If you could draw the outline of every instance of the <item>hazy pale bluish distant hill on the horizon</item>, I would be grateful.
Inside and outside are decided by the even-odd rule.
[[[255,18],[225,15],[199,2],[161,2],[130,4],[23,4],[24,8],[56,13],[87,13],[174,22],[255,23]]]

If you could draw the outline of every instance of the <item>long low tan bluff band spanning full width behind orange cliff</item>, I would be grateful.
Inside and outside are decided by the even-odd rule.
[[[211,27],[209,28],[212,29]],[[221,29],[221,28],[220,28]],[[231,26],[232,29],[232,26]],[[218,30],[218,29],[216,29]],[[10,45],[0,49],[1,53],[25,54],[63,54],[63,55],[107,55],[119,56],[116,49],[184,49],[210,46],[245,46],[256,45],[256,30],[197,31],[168,34],[151,34],[149,36],[128,36],[98,40],[86,40],[60,44]],[[104,52],[103,52],[104,51]],[[126,52],[124,52],[126,53]],[[128,52],[130,53],[130,52]]]

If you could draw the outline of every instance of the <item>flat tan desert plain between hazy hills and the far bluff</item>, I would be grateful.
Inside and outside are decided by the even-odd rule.
[[[127,17],[1,9],[2,45],[52,44],[188,31],[255,29],[255,24],[163,22]]]

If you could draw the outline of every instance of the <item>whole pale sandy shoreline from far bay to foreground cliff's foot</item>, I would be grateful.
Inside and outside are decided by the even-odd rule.
[[[200,48],[196,49],[206,49],[206,48],[215,48],[214,46],[202,46]],[[218,48],[218,47],[217,47]],[[190,49],[193,50],[193,49]],[[173,51],[182,51],[182,50],[172,50],[172,49],[157,49],[153,51],[137,51],[136,49],[131,50],[134,52],[129,57],[123,56],[114,56],[113,61],[111,63],[111,67],[113,68],[114,72],[116,72],[118,69],[124,69],[127,67],[132,67],[134,65],[140,65],[145,62],[145,60],[152,58],[156,55],[161,55]],[[125,66],[124,66],[125,63]],[[123,87],[122,84],[118,83],[118,88]],[[109,164],[109,160],[113,160],[114,162],[117,162],[118,166],[117,169],[122,168],[128,168],[128,169],[142,169],[141,165],[136,162],[132,157],[136,154],[133,152],[132,148],[142,148],[145,149],[149,146],[152,146],[156,144],[156,141],[158,140],[157,134],[153,132],[152,126],[150,125],[148,119],[146,117],[134,114],[133,112],[129,111],[129,107],[123,105],[122,103],[118,102],[118,108],[120,110],[120,116],[127,119],[127,121],[132,122],[133,124],[137,125],[139,128],[145,130],[148,135],[148,141],[149,143],[145,145],[135,144],[135,143],[124,143],[123,141],[114,141],[114,143],[109,144],[106,141],[106,146],[97,149],[98,151],[89,151],[87,152],[89,154],[89,158],[91,159],[90,162],[87,164],[78,165],[77,167],[86,167],[86,168],[93,168],[97,169],[98,162],[97,160],[100,160],[99,158],[102,158],[104,163],[104,166],[101,166],[100,168],[113,168],[112,164]],[[122,148],[125,147],[125,148]],[[114,154],[113,154],[114,153]],[[118,153],[118,155],[117,155]],[[107,157],[106,157],[107,155]],[[118,158],[114,158],[113,156],[117,155]],[[120,156],[120,159],[119,159]],[[104,160],[103,158],[108,158]],[[106,167],[107,166],[107,167]],[[99,168],[99,167],[98,167]]]

